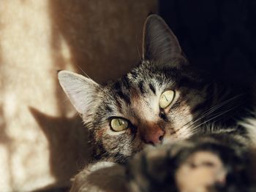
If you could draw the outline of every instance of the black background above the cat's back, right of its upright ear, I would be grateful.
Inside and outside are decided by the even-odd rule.
[[[191,64],[226,81],[255,76],[256,1],[159,0]]]

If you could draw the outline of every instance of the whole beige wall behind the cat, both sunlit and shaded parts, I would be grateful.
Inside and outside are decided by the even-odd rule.
[[[86,128],[57,70],[119,77],[140,61],[156,11],[156,0],[0,1],[0,191],[69,185],[86,163]]]

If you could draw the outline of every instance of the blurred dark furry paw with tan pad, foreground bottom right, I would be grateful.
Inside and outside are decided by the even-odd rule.
[[[135,192],[246,191],[247,155],[236,140],[194,137],[135,155],[127,164],[127,175]]]

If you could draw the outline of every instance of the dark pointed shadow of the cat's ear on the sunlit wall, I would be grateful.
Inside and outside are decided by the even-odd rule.
[[[48,139],[50,169],[56,184],[54,187],[70,185],[70,178],[89,162],[91,151],[88,146],[88,130],[80,117],[52,117],[29,107],[31,115]],[[50,186],[42,189],[42,191]]]

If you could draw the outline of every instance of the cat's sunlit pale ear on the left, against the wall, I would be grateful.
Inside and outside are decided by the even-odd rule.
[[[83,75],[68,71],[60,71],[58,78],[75,109],[80,114],[87,115],[97,100],[99,84]]]

